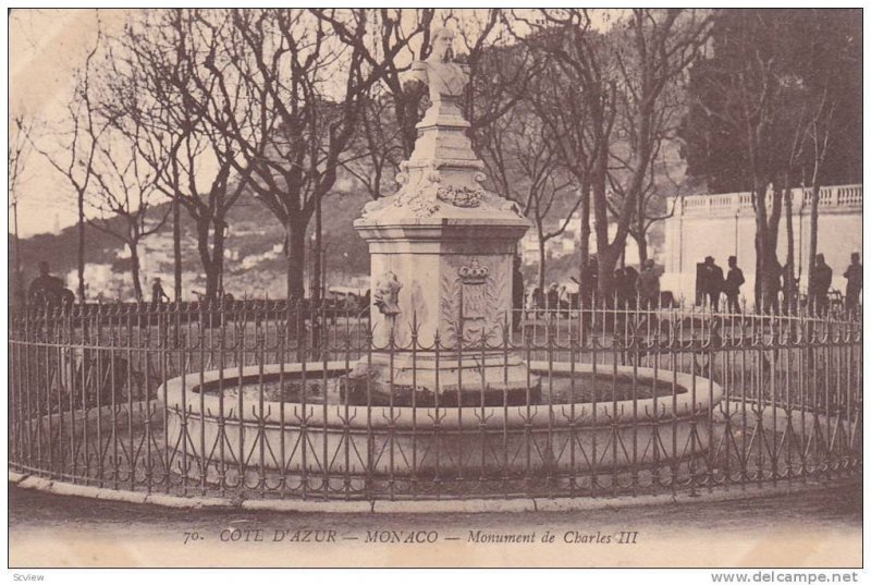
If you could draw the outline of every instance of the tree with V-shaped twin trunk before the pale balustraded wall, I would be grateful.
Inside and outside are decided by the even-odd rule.
[[[745,160],[756,217],[756,305],[771,309],[781,289],[777,234],[790,186],[785,181],[801,133],[793,131],[796,112],[787,107],[796,85],[790,51],[759,35],[780,38],[789,23],[748,10],[723,14],[717,26],[714,57],[701,63],[707,93],[699,105],[710,123],[733,136]]]

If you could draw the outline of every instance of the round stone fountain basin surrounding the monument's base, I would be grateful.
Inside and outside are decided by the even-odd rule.
[[[168,444],[207,464],[340,478],[606,471],[702,452],[723,397],[709,378],[671,370],[531,362],[538,404],[346,404],[340,380],[348,369],[275,364],[170,379]]]

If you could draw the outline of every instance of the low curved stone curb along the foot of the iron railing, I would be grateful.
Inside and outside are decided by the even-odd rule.
[[[94,486],[53,482],[44,477],[9,472],[9,483],[23,489],[34,489],[58,496],[77,496],[103,501],[147,503],[187,510],[249,510],[271,512],[315,513],[486,513],[486,512],[569,512],[623,509],[635,507],[670,505],[692,502],[719,502],[739,499],[766,498],[788,493],[829,490],[860,482],[861,478],[838,479],[826,483],[807,480],[798,484],[720,487],[696,493],[679,491],[655,496],[622,496],[617,498],[518,498],[513,500],[426,500],[426,501],[341,501],[341,500],[238,500],[218,497],[181,497],[165,493],[143,493]]]

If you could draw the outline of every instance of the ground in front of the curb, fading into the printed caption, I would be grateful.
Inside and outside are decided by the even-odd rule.
[[[512,514],[176,510],[12,486],[9,493],[13,568],[749,568],[862,562],[860,486],[731,502]],[[547,540],[548,533],[553,541]],[[532,543],[496,541],[512,535],[535,536]]]

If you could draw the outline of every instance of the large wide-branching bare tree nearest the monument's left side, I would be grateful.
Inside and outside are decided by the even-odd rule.
[[[255,122],[209,115],[210,123],[232,138],[250,169],[250,190],[285,228],[291,298],[304,295],[308,224],[339,170],[357,156],[348,148],[369,92],[421,29],[367,51],[369,19],[367,10],[238,11],[229,42],[216,47],[232,68],[210,70],[212,100],[225,111],[241,87]]]

